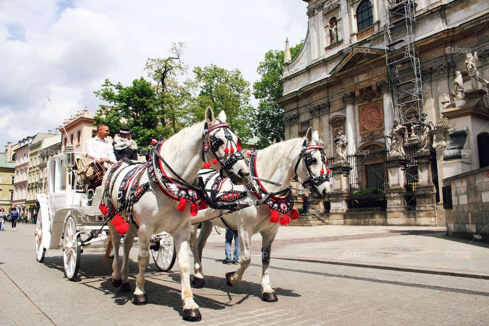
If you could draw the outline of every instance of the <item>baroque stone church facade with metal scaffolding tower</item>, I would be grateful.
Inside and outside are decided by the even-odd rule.
[[[338,131],[346,137],[348,171],[336,169],[345,185],[333,182],[333,168],[331,203],[324,203],[321,219],[448,227],[444,202],[451,205],[458,195],[447,190],[444,196],[444,180],[489,165],[489,2],[303,1],[308,31],[295,58],[286,42],[277,102],[284,107],[285,138],[318,130],[331,168]],[[397,181],[388,140],[395,121],[406,130]],[[423,140],[414,130],[421,122],[430,126],[427,160],[418,157]],[[395,204],[389,202],[393,182],[404,188]],[[421,187],[428,184],[429,204],[422,199],[428,188]],[[334,203],[338,192],[340,204]],[[423,203],[431,210],[427,219],[420,217]]]

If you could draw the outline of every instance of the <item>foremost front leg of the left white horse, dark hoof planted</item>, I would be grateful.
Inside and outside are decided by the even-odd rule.
[[[190,222],[188,222],[190,223]],[[190,286],[190,257],[188,257],[188,241],[190,239],[191,226],[175,231],[173,240],[177,251],[178,265],[180,267],[180,279],[182,283],[182,304],[183,319],[189,321],[199,321],[202,316],[199,306],[195,303]]]

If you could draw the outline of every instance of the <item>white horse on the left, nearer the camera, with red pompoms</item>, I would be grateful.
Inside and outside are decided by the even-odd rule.
[[[191,127],[187,127],[180,132],[173,135],[170,139],[164,143],[158,143],[156,149],[158,152],[153,153],[156,155],[157,162],[161,166],[161,172],[170,176],[174,181],[185,180],[187,184],[192,184],[197,176],[197,173],[202,167],[202,158],[204,158],[204,166],[209,166],[210,162],[207,160],[215,157],[217,160],[213,161],[215,168],[223,167],[227,175],[232,175],[233,180],[236,183],[242,183],[247,180],[249,171],[246,163],[240,158],[236,159],[234,148],[239,144],[237,136],[229,130],[226,123],[226,114],[224,111],[219,115],[219,119],[214,118],[214,114],[210,107],[205,112],[205,121],[195,124]],[[212,146],[210,147],[209,145]],[[230,151],[231,147],[233,149]],[[236,151],[237,153],[238,151]],[[212,157],[208,157],[212,156]],[[150,159],[151,160],[151,159]],[[220,162],[220,165],[217,162]],[[229,166],[229,165],[232,166]],[[153,166],[151,162],[147,162],[146,168],[144,165],[140,165],[141,168],[152,171]],[[121,197],[120,184],[124,180],[124,176],[134,169],[134,165],[124,164],[121,166],[122,172],[119,174],[111,173],[107,171],[104,176],[102,185],[109,189],[113,189],[110,193],[110,204],[114,209],[120,207],[118,198]],[[115,231],[113,223],[108,223],[111,230],[111,243],[112,246],[107,246],[106,259],[108,260],[108,254],[111,253],[112,247],[114,248],[114,262],[112,264],[112,284],[116,287],[120,287],[122,291],[130,291],[128,281],[128,264],[129,264],[129,251],[132,247],[134,235],[137,233],[139,236],[139,274],[136,278],[136,287],[133,293],[132,302],[137,305],[146,304],[148,298],[144,290],[144,271],[149,261],[149,243],[152,234],[157,234],[163,231],[170,233],[175,241],[175,249],[178,257],[178,264],[180,267],[180,276],[182,284],[181,298],[183,303],[183,319],[198,321],[201,320],[201,314],[199,312],[198,305],[194,302],[192,289],[189,280],[190,261],[188,253],[188,241],[191,234],[191,211],[189,206],[185,205],[186,200],[190,197],[180,199],[175,196],[175,193],[170,193],[174,198],[170,198],[164,193],[165,184],[158,182],[158,168],[156,170],[156,177],[153,180],[149,179],[149,173],[142,173],[139,184],[147,184],[148,188],[139,200],[133,202],[130,207],[132,212],[132,221],[129,223],[129,232],[124,236],[124,255],[122,266],[119,261],[119,244],[121,235]],[[116,171],[116,170],[115,170]],[[117,170],[119,171],[119,170]],[[125,182],[131,187],[131,183],[137,182],[138,173],[133,175],[132,179],[125,178]],[[107,178],[110,178],[106,180]],[[159,176],[161,180],[161,175]],[[107,182],[107,183],[106,183]],[[161,186],[163,185],[163,187]],[[170,182],[169,189],[173,189],[173,184]],[[167,190],[168,190],[167,188]],[[177,189],[176,195],[181,192],[181,188]],[[135,194],[138,195],[138,194]],[[188,189],[187,195],[194,195],[192,189]],[[107,205],[108,206],[108,205]],[[186,208],[185,208],[186,206]],[[195,207],[191,207],[195,208]],[[120,215],[125,216],[127,210],[120,212]],[[138,228],[135,227],[138,226]]]

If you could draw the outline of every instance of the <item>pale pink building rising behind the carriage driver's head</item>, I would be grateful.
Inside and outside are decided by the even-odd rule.
[[[97,134],[97,127],[93,125],[95,115],[88,112],[87,107],[77,112],[63,122],[61,150],[72,145],[75,152],[85,152],[85,142]]]

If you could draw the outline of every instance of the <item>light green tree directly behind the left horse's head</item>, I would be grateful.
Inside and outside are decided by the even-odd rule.
[[[216,114],[226,112],[231,128],[243,141],[253,135],[250,105],[250,83],[245,80],[238,69],[226,70],[216,65],[194,68],[197,87],[201,89],[194,99],[192,112],[196,119],[203,119],[204,108],[210,105]],[[201,108],[201,110],[196,110]]]

